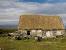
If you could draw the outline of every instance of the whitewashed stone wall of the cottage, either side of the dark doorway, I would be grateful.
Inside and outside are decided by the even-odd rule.
[[[21,32],[27,34],[26,30],[22,30]],[[42,31],[42,30],[31,30],[30,31],[30,35],[40,36],[42,38],[47,38],[47,37],[51,38],[51,37],[55,37],[56,35],[63,35],[63,34],[64,34],[63,30],[57,30],[56,32],[54,32],[54,31]]]

